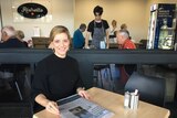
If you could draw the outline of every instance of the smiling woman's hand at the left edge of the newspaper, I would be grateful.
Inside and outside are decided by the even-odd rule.
[[[45,109],[52,114],[60,115],[59,106],[55,101],[49,101],[45,106]]]

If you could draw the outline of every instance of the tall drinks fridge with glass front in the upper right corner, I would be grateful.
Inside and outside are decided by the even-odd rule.
[[[176,24],[175,3],[153,4],[150,7],[147,49],[174,50]]]

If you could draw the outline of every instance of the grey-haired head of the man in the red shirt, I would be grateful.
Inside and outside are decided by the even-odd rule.
[[[127,30],[119,30],[116,32],[116,39],[118,44],[124,44],[125,40],[129,39]]]

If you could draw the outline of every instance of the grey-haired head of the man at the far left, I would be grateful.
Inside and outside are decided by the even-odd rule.
[[[1,33],[2,33],[1,39],[3,42],[8,41],[12,36],[15,36],[15,30],[11,25],[3,26]]]

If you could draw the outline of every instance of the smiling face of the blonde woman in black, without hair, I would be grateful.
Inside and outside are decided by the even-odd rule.
[[[70,47],[70,40],[66,33],[56,34],[52,41],[56,56],[64,58]]]

